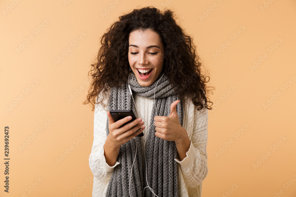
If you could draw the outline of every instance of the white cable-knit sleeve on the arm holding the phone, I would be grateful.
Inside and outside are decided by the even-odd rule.
[[[114,167],[120,164],[116,161],[114,166],[109,166],[104,156],[104,144],[106,142],[107,111],[101,105],[95,105],[94,112],[94,142],[89,155],[89,167],[94,177],[100,182],[110,180]]]

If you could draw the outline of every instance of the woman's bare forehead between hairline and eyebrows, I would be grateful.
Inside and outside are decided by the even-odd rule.
[[[161,39],[158,33],[152,31],[152,30],[135,30],[130,33],[129,38],[128,38],[129,44],[135,44],[135,45],[141,45],[145,43],[155,43],[155,44],[160,44]]]

